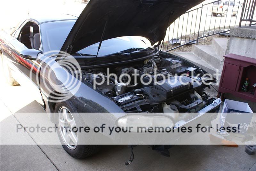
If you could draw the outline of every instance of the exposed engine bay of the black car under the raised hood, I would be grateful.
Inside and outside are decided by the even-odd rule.
[[[154,56],[136,63],[84,69],[81,77],[126,113],[193,113],[210,105],[202,69],[176,57]],[[214,82],[214,80],[209,80]],[[100,83],[100,84],[96,84]]]

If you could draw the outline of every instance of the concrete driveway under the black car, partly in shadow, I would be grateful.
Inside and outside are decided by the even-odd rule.
[[[11,87],[1,82],[0,170],[256,170],[256,155],[249,156],[244,146],[179,145],[170,149],[170,158],[148,146],[137,146],[135,159],[128,167],[124,162],[131,153],[126,146],[102,146],[98,154],[88,159],[73,159],[61,145],[47,145],[46,134],[17,133],[17,124],[53,126],[33,97],[29,87]],[[59,142],[57,134],[50,139]],[[5,145],[8,143],[16,145]]]

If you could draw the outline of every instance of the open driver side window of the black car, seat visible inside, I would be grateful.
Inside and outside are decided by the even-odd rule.
[[[17,39],[28,49],[39,50],[41,46],[39,27],[36,23],[27,22],[20,30]]]

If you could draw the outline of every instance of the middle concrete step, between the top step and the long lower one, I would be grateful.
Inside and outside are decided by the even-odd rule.
[[[211,45],[193,45],[192,52],[213,68],[222,69],[223,57],[219,57]]]

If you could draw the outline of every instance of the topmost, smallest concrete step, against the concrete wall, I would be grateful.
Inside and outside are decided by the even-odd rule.
[[[220,58],[226,54],[228,40],[229,39],[227,38],[219,38],[219,37],[212,38],[212,48],[215,50],[215,52]],[[224,60],[224,57],[223,57],[223,60]]]

